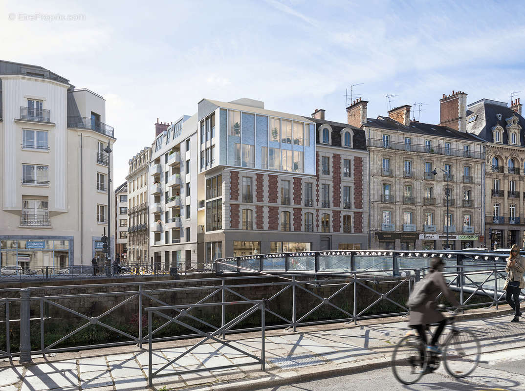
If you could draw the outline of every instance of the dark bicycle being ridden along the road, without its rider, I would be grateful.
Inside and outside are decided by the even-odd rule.
[[[406,335],[397,343],[391,362],[392,372],[399,382],[414,384],[426,373],[435,372],[441,361],[447,373],[455,378],[463,378],[474,372],[481,356],[478,339],[467,329],[456,329],[456,312],[450,313],[445,319],[446,330],[450,330],[450,334],[442,344],[442,354],[428,352],[418,335]],[[432,337],[428,327],[426,330]]]

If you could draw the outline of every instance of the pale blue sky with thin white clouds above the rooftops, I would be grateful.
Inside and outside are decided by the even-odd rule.
[[[425,103],[439,122],[452,90],[525,102],[520,1],[0,2],[2,60],[39,65],[106,99],[115,128],[114,184],[154,140],[154,123],[203,98],[253,98],[265,108],[346,122],[345,94],[368,116]],[[419,107],[419,105],[416,105]]]

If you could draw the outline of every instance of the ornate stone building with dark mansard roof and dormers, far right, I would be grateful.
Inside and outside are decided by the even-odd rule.
[[[466,107],[466,129],[486,141],[486,247],[525,244],[525,119],[519,99],[481,99]]]

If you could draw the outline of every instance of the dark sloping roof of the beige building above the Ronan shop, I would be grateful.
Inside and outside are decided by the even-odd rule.
[[[366,119],[366,126],[373,128],[387,129],[401,131],[404,133],[416,133],[416,134],[429,134],[438,137],[447,137],[460,140],[477,141],[482,142],[479,137],[471,133],[459,132],[455,129],[449,128],[448,126],[434,125],[432,123],[414,122],[410,121],[410,126],[405,126],[402,123],[394,121],[389,117],[382,117],[381,115],[374,118]]]

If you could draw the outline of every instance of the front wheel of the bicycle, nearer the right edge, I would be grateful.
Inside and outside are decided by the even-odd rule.
[[[443,350],[445,369],[456,378],[470,375],[478,366],[481,346],[476,336],[468,330],[453,332]]]

